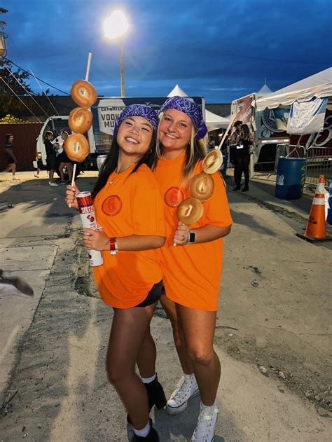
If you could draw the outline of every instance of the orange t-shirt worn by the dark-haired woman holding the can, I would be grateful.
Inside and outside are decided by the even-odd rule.
[[[160,188],[153,173],[141,165],[120,174],[113,172],[94,200],[97,222],[108,237],[156,235],[165,237],[165,216]],[[132,308],[160,282],[160,254],[156,249],[102,252],[104,265],[93,268],[102,300],[114,308]]]

